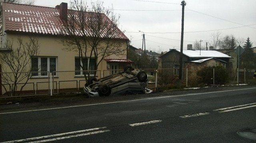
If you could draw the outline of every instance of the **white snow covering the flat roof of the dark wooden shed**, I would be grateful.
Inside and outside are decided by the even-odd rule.
[[[180,52],[180,49],[172,49]],[[201,54],[200,54],[201,53]],[[232,58],[224,53],[214,51],[214,50],[183,50],[183,54],[188,57],[223,57],[223,58]]]

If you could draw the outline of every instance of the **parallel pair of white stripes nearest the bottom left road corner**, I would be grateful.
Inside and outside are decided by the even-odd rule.
[[[72,132],[67,132],[67,133],[59,133],[59,134],[54,134],[54,135],[46,135],[46,136],[41,136],[41,137],[32,137],[32,138],[27,138],[27,139],[19,139],[19,140],[14,140],[14,141],[6,141],[6,142],[1,142],[1,143],[17,143],[17,142],[22,142],[22,141],[33,141],[33,140],[38,140],[38,139],[46,139],[46,138],[50,138],[50,137],[58,137],[58,136],[64,136],[64,135],[70,135],[70,134],[76,134],[76,133],[82,133],[82,134],[78,134],[77,135],[70,135],[70,136],[66,136],[66,137],[58,137],[58,138],[53,138],[55,140],[59,140],[59,138],[63,138],[63,139],[69,139],[71,137],[80,137],[80,136],[84,136],[84,135],[92,135],[92,134],[96,134],[96,133],[103,133],[106,131],[110,131],[110,130],[101,130],[101,131],[95,131],[95,130],[99,130],[99,129],[106,129],[107,127],[98,127],[98,128],[93,128],[93,129],[85,129],[85,130],[80,130],[80,131],[72,131]],[[83,133],[83,132],[87,132],[87,131],[94,131],[94,132],[89,132],[89,133]],[[48,139],[49,141],[55,141],[52,139]],[[44,141],[47,142],[47,141]],[[33,142],[32,142],[33,143]],[[42,143],[42,142],[34,142],[34,143]]]

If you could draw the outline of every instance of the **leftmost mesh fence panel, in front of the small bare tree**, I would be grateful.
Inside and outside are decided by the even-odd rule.
[[[1,72],[0,94],[4,96],[49,94],[49,75],[49,72]]]

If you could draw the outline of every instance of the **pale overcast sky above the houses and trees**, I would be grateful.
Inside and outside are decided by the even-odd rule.
[[[86,1],[86,0],[85,0]],[[97,0],[87,0],[90,2]],[[130,45],[142,48],[142,34],[149,51],[160,53],[180,49],[182,25],[182,0],[101,0],[103,6],[113,7],[120,15],[119,29],[130,39]],[[70,0],[36,0],[35,5],[55,7]],[[212,34],[221,37],[234,35],[238,39],[250,38],[256,47],[256,0],[185,0],[184,42],[200,41],[208,47]],[[143,32],[140,32],[143,31]]]

